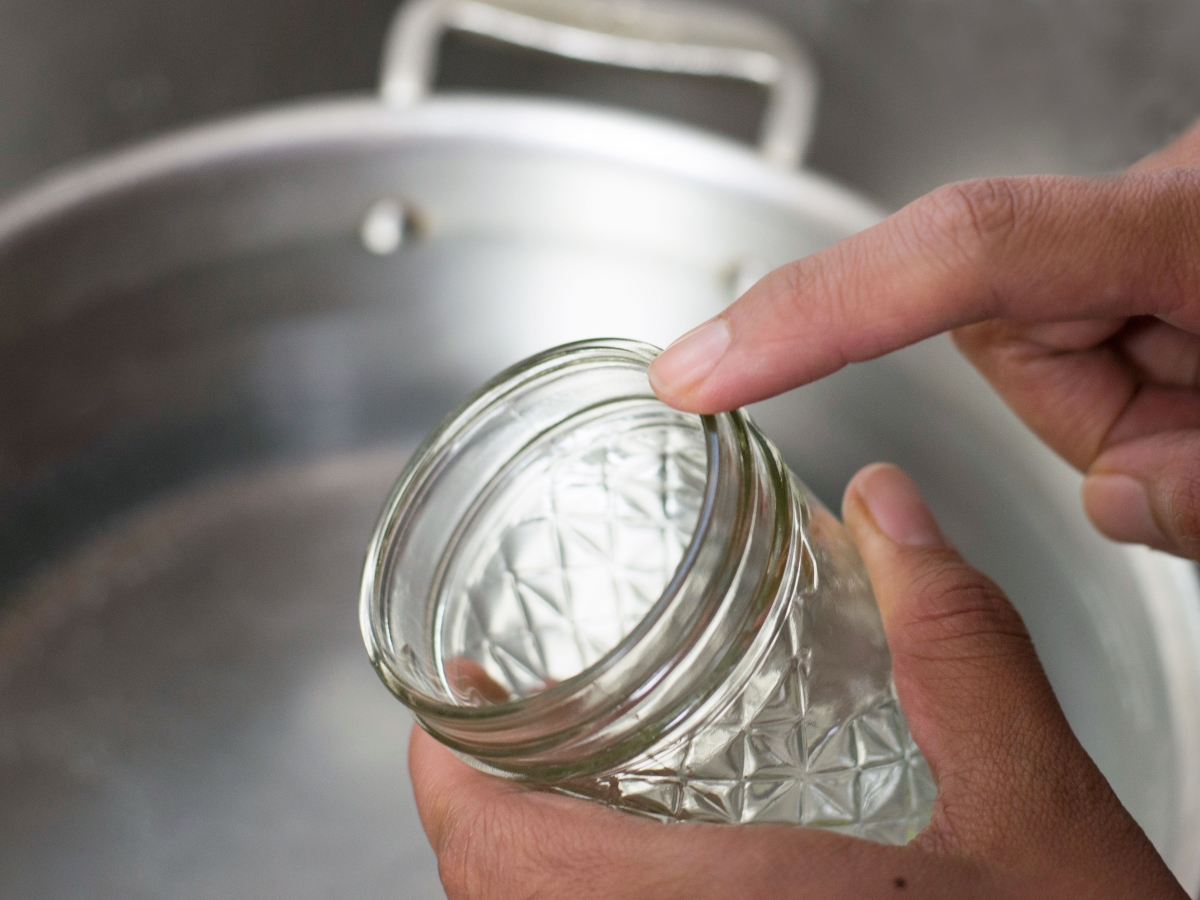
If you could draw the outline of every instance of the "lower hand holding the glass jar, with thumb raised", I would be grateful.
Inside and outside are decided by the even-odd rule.
[[[907,476],[864,469],[842,514],[937,780],[916,840],[664,826],[484,775],[415,728],[409,767],[450,900],[1186,898],[1068,727],[1016,611]]]

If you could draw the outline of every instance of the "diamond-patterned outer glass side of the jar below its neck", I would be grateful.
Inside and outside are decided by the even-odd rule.
[[[778,598],[786,612],[761,661],[683,733],[568,790],[664,818],[817,826],[888,844],[929,823],[936,788],[890,673],[880,677],[886,650],[871,659],[882,624],[862,560],[841,523],[792,486],[810,511],[816,577]]]

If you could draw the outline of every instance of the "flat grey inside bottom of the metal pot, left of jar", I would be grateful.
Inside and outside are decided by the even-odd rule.
[[[5,898],[440,895],[344,602],[403,460],[174,492],[11,598]]]

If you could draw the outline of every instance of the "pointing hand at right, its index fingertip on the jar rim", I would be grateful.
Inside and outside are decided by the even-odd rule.
[[[942,187],[768,275],[650,367],[750,403],[941,331],[1086,473],[1116,540],[1200,558],[1200,126],[1104,179]]]

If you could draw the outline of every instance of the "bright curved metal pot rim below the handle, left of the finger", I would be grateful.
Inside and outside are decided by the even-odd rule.
[[[636,167],[782,206],[851,234],[886,214],[823,175],[652,115],[538,97],[436,95],[403,109],[371,95],[299,101],[191,126],[67,164],[0,198],[0,253],[30,229],[137,186],[278,152],[480,142]]]

